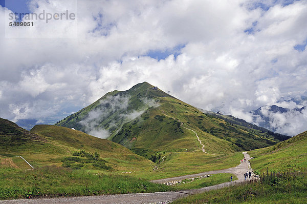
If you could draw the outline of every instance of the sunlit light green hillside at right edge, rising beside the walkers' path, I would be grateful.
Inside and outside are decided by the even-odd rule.
[[[248,152],[254,157],[252,168],[258,173],[282,172],[307,168],[307,132],[298,134],[291,139],[282,141],[272,147]]]

